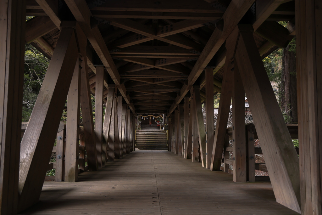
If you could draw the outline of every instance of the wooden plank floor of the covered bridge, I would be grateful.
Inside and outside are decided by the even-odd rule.
[[[298,214],[275,201],[270,182],[234,183],[169,151],[134,151],[78,182],[45,182],[23,214]]]

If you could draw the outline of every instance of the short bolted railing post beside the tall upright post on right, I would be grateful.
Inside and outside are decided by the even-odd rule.
[[[247,167],[247,181],[255,182],[255,141],[253,130],[255,130],[254,124],[248,124],[245,127],[246,131],[246,167]]]

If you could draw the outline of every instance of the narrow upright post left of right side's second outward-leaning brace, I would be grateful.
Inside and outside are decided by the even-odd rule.
[[[198,152],[198,124],[196,120],[196,110],[194,102],[194,88],[191,88],[191,105],[190,105],[190,119],[192,122],[192,162],[199,162]]]

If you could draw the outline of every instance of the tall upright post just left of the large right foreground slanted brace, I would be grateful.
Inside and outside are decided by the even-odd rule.
[[[232,84],[233,181],[246,182],[245,91],[236,63]]]

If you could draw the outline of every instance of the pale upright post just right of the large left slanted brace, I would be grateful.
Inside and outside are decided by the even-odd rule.
[[[78,178],[81,56],[76,61],[71,85],[67,95],[65,182]]]

